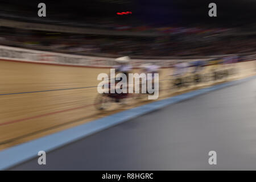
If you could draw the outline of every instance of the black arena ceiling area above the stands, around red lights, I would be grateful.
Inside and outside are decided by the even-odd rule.
[[[1,1],[1,12],[37,17],[37,0]],[[43,1],[47,5],[47,19],[67,19],[86,22],[88,19],[141,20],[144,23],[188,25],[215,24],[216,26],[246,26],[255,23],[255,0],[87,0]],[[217,4],[217,17],[208,16],[208,5]],[[118,16],[118,12],[133,14]]]

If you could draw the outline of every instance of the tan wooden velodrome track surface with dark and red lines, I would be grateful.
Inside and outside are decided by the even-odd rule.
[[[255,75],[255,61],[238,63],[236,67],[240,73],[228,80]],[[168,89],[170,80],[164,80],[170,72],[168,68],[160,72],[159,100],[228,81],[173,91]],[[122,108],[113,104],[108,111],[96,110],[93,104],[98,96],[95,86],[100,82],[99,73],[109,73],[109,69],[0,61],[0,150],[151,102],[131,100]]]

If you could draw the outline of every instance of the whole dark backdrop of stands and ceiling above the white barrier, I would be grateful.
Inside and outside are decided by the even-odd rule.
[[[47,16],[40,18],[39,1],[1,1],[0,41],[15,47],[112,57],[254,52],[256,2],[214,2],[217,17],[211,18],[210,1],[201,0],[44,1]],[[126,11],[132,14],[117,15]]]

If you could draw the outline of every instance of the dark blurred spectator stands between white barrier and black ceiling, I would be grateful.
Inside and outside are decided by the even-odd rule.
[[[168,29],[162,28],[162,30]],[[196,28],[186,28],[186,30],[190,32],[184,31],[182,34],[171,36],[142,37],[67,34],[1,27],[0,44],[112,57],[209,56],[256,52],[255,35],[222,34],[221,29],[205,32]]]

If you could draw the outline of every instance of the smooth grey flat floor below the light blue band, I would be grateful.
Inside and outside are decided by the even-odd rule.
[[[11,169],[256,169],[256,79],[131,119]],[[208,152],[217,152],[209,165]]]

